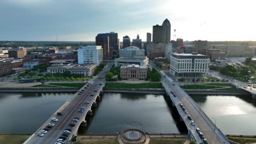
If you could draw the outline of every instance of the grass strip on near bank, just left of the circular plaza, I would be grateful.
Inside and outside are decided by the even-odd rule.
[[[108,144],[119,144],[117,138],[81,138],[81,141],[83,143],[90,143],[90,144],[102,144],[102,143],[108,143]]]

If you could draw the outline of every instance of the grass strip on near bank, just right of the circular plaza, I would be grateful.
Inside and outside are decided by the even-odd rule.
[[[149,144],[183,144],[185,142],[184,138],[150,138]]]

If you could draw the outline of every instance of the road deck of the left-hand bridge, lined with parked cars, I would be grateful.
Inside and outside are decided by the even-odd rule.
[[[57,110],[53,116],[51,116],[35,133],[30,137],[29,140],[27,140],[25,143],[55,143],[57,139],[62,135],[63,131],[66,128],[72,128],[69,126],[70,123],[75,123],[75,127],[79,127],[78,124],[80,124],[81,121],[84,121],[85,119],[82,119],[84,115],[86,115],[87,111],[91,109],[92,103],[94,102],[96,98],[96,93],[99,93],[101,91],[102,87],[104,86],[104,76],[105,74],[110,70],[110,66],[107,65],[100,74],[98,74],[91,82],[91,86],[87,86],[88,88],[82,87],[79,92],[81,92],[82,89],[84,89],[83,94],[78,94],[79,92],[75,93],[71,99],[69,99],[65,104],[63,104],[59,110]],[[101,85],[100,83],[103,83]],[[97,92],[95,92],[97,91]],[[90,96],[94,95],[94,97]],[[86,104],[86,101],[90,101],[90,104]],[[80,107],[86,107],[84,112],[78,112]],[[62,112],[63,116],[57,115],[57,112]],[[59,119],[58,122],[51,121],[51,118],[56,117]],[[73,118],[78,117],[79,122],[73,122]],[[55,126],[51,128],[48,133],[46,133],[43,137],[38,136],[38,132],[45,128],[48,123],[55,123]],[[75,128],[74,127],[74,128]],[[73,130],[71,131],[71,134],[69,135],[68,139],[71,138]],[[67,140],[68,140],[67,139]],[[66,141],[67,141],[66,140]]]

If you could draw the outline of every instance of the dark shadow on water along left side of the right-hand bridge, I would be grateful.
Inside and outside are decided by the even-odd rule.
[[[168,105],[168,107],[169,107],[169,111],[172,115],[172,118],[176,122],[179,133],[183,133],[183,134],[188,133],[188,129],[187,129],[185,123],[183,121],[181,121],[181,119],[179,117],[179,112],[178,112],[177,108],[175,106],[174,107],[172,106],[171,98],[165,94],[164,99],[165,99],[166,105]]]

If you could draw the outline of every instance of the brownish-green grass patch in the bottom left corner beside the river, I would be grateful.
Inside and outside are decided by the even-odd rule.
[[[1,144],[21,144],[25,142],[31,135],[0,135]]]

